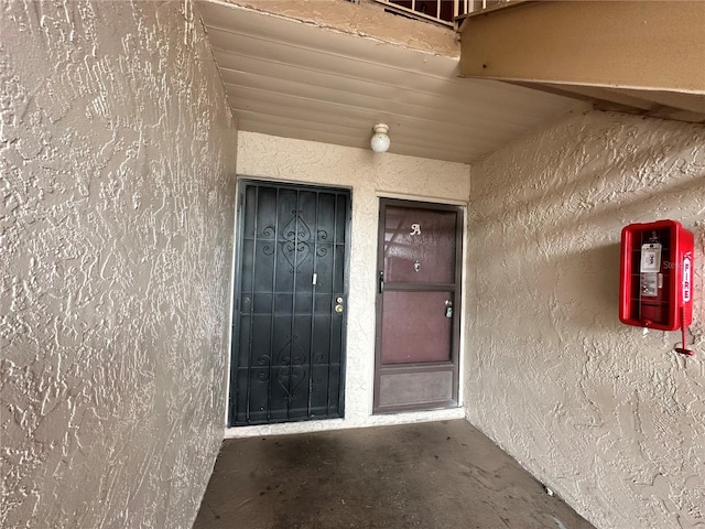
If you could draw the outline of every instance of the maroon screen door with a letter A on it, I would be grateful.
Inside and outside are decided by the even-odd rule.
[[[381,199],[375,412],[458,401],[463,210]]]

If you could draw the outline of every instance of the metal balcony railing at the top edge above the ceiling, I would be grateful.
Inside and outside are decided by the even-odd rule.
[[[510,0],[375,0],[386,9],[406,17],[455,26],[456,19],[482,9],[496,8]]]

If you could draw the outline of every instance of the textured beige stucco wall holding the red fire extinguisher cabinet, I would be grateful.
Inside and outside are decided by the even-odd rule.
[[[469,421],[600,528],[705,527],[705,128],[578,117],[471,168]],[[696,237],[694,358],[618,321],[622,226]]]

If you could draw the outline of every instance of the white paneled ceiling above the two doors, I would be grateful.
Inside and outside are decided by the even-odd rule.
[[[458,61],[202,0],[238,129],[469,163],[586,104],[458,77]],[[411,23],[411,22],[410,22]],[[422,22],[417,22],[422,23]]]

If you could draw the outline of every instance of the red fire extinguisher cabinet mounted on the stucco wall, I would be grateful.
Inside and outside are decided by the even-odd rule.
[[[621,230],[619,320],[675,331],[693,320],[693,234],[676,220]]]

